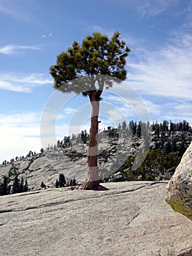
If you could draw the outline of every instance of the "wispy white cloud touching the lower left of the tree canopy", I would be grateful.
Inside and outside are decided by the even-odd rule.
[[[22,74],[1,74],[0,89],[7,91],[31,92],[37,86],[53,83],[44,74],[33,73],[30,75]]]

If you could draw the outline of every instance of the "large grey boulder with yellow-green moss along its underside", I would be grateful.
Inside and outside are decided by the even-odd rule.
[[[166,202],[174,211],[192,219],[192,143],[169,181]]]

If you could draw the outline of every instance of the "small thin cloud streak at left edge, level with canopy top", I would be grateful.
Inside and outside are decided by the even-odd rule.
[[[6,45],[0,48],[0,54],[13,55],[20,53],[21,50],[40,50],[40,47],[35,45]]]

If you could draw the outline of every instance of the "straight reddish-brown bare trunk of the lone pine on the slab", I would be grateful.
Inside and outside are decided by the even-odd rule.
[[[96,91],[90,91],[88,94],[92,113],[91,113],[91,129],[88,145],[88,181],[85,184],[85,189],[105,190],[106,188],[99,185],[99,167],[97,164],[98,157],[98,131],[99,131],[99,100],[96,100]]]

